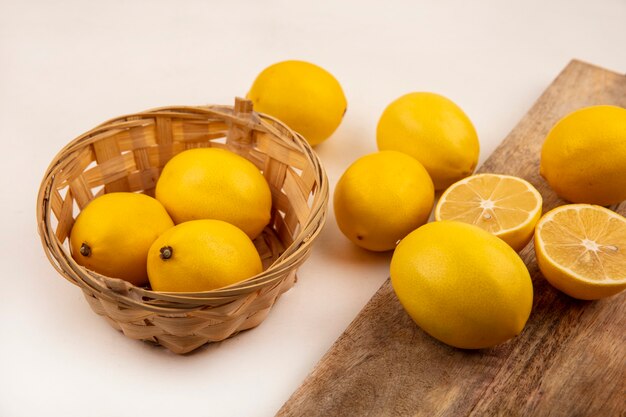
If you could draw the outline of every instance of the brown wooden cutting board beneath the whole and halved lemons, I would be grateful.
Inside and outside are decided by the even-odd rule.
[[[567,113],[626,107],[626,77],[572,61],[479,170],[523,177],[544,212],[564,204],[539,176],[541,144]],[[626,203],[611,207],[626,214]],[[492,349],[451,348],[422,332],[387,280],[279,416],[626,415],[626,292],[588,302],[553,289],[532,243],[534,285],[522,334]]]

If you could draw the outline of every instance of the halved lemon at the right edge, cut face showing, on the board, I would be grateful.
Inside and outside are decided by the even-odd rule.
[[[596,300],[626,288],[626,219],[604,207],[568,204],[537,223],[543,276],[571,297]]]

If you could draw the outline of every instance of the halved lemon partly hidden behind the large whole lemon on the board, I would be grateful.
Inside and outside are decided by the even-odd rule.
[[[522,178],[477,174],[450,186],[435,208],[435,220],[456,220],[488,231],[520,251],[541,217],[541,194]]]

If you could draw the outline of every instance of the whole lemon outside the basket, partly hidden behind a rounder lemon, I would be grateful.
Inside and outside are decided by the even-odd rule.
[[[410,93],[384,110],[376,129],[380,150],[405,152],[424,165],[442,190],[474,172],[479,143],[463,110],[434,93]]]

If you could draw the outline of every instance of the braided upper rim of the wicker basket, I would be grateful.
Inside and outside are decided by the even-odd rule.
[[[281,130],[287,132],[294,140],[281,143],[286,146],[293,146],[294,149],[302,152],[307,161],[315,168],[315,181],[317,192],[311,203],[311,213],[307,222],[301,225],[300,231],[293,238],[293,242],[285,248],[283,253],[266,270],[249,279],[236,284],[203,292],[158,292],[146,288],[136,287],[126,281],[110,278],[97,272],[91,271],[78,265],[74,259],[66,252],[62,244],[56,238],[50,222],[51,198],[53,179],[63,165],[73,153],[88,146],[90,138],[97,136],[99,132],[112,130],[115,128],[126,129],[132,125],[140,125],[141,120],[157,115],[167,115],[184,117],[189,115],[194,118],[206,118],[207,115],[214,116],[217,120],[226,122],[237,122],[257,131],[264,131],[274,136],[284,136],[274,125],[280,126]],[[128,121],[132,118],[131,122]],[[88,293],[97,293],[99,297],[109,299],[127,307],[142,308],[161,313],[176,313],[180,311],[194,310],[206,306],[209,301],[224,301],[239,297],[243,294],[251,293],[263,288],[266,285],[282,279],[286,271],[297,268],[307,258],[311,249],[311,244],[321,232],[327,215],[327,202],[329,194],[329,184],[326,172],[321,161],[308,142],[297,132],[290,129],[280,120],[264,113],[252,112],[251,118],[243,120],[239,118],[232,106],[228,105],[200,105],[200,106],[161,106],[145,111],[130,113],[123,116],[111,118],[94,128],[79,135],[66,144],[52,159],[49,164],[37,196],[37,224],[38,232],[44,246],[46,256],[50,263],[64,278],[79,286]],[[53,250],[56,249],[56,250]],[[146,301],[144,298],[151,298]]]

